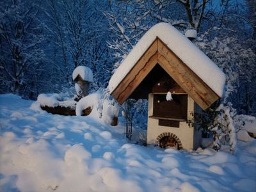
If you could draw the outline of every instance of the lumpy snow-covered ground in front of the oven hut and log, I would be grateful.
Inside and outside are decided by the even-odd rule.
[[[31,106],[32,105],[32,106]],[[60,116],[0,95],[0,191],[255,191],[256,141],[236,154],[125,140],[97,116]]]

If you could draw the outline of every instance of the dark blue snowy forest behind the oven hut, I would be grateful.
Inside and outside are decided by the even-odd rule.
[[[1,93],[72,92],[79,65],[93,71],[92,92],[106,88],[141,36],[168,22],[196,29],[194,43],[227,76],[222,102],[256,115],[255,0],[3,0],[0,10]]]

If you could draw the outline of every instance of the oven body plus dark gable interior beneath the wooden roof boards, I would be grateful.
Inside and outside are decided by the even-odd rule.
[[[166,100],[168,92],[173,100]],[[129,98],[148,99],[147,144],[177,149],[196,149],[202,130],[194,116],[202,109],[160,66],[147,74]]]

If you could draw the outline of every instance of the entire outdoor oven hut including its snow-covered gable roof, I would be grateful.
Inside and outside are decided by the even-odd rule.
[[[223,95],[225,74],[186,36],[167,23],[145,33],[109,81],[119,104],[148,99],[147,143],[197,148],[196,113]],[[188,123],[189,122],[189,123]]]

